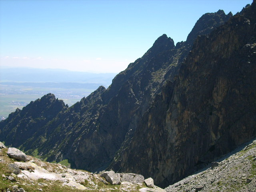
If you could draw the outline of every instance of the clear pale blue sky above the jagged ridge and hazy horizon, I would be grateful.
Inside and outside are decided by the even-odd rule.
[[[186,40],[207,12],[252,0],[0,0],[0,66],[120,72],[162,34]]]

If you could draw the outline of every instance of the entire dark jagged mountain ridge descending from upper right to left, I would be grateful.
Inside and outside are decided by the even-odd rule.
[[[0,140],[73,168],[172,184],[256,136],[255,15],[255,3],[231,19],[204,14],[186,42],[160,36],[107,89],[69,108],[48,94],[16,110]]]

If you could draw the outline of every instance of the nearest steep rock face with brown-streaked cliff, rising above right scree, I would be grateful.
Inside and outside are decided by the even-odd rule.
[[[200,36],[112,168],[167,186],[256,136],[256,3]]]

